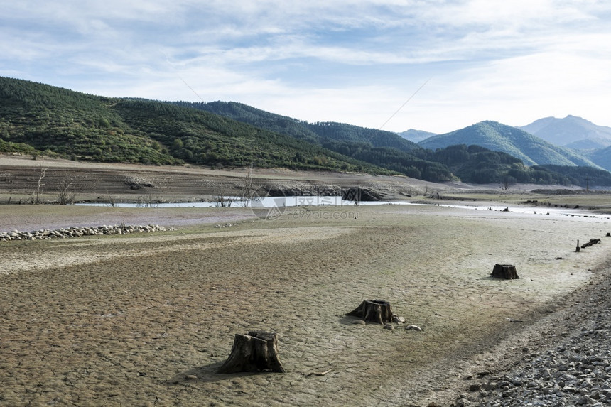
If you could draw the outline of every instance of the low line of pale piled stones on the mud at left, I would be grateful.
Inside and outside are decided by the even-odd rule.
[[[168,230],[158,224],[148,225],[102,225],[98,227],[68,227],[56,230],[40,229],[32,232],[23,232],[17,229],[11,232],[0,232],[0,242],[9,240],[36,240],[36,239],[66,239],[68,237],[94,236],[96,234],[129,234],[151,233]]]

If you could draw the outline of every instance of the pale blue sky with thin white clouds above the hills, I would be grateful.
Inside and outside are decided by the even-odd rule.
[[[396,132],[611,126],[611,1],[0,0],[0,76]]]

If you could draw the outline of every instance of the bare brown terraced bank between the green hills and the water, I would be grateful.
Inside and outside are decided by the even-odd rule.
[[[68,184],[70,188],[67,189],[75,193],[77,201],[198,202],[210,200],[219,193],[233,195],[244,183],[247,173],[244,168],[219,170],[194,166],[83,163],[0,154],[0,204],[26,204],[32,202],[33,195],[38,192],[40,202],[57,202],[58,190],[65,190]],[[281,168],[254,168],[252,177],[255,187],[272,185],[296,190],[368,188],[377,192],[382,200],[436,197],[438,194],[460,197],[464,193],[490,194],[491,191],[495,195],[522,195],[541,188],[541,185],[512,185],[509,190],[502,190],[499,185],[436,184],[404,176]]]

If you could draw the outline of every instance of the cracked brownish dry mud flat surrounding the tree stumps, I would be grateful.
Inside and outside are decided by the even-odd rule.
[[[0,229],[44,222],[27,216],[36,208],[4,205]],[[563,335],[573,293],[604,278],[611,256],[600,216],[71,209],[46,219],[145,217],[177,230],[1,244],[0,405],[448,405],[465,374]],[[602,242],[575,252],[591,238]],[[490,278],[497,263],[514,264],[519,280]],[[405,324],[354,324],[345,313],[367,298],[388,300]],[[277,332],[286,373],[216,373],[249,330]]]

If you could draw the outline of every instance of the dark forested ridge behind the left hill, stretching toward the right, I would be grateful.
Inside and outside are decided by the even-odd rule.
[[[585,185],[587,167],[574,167],[568,175],[547,168],[529,168],[509,153],[490,151],[480,146],[446,146],[437,151],[420,148],[415,143],[389,131],[364,129],[350,124],[293,119],[236,102],[173,102],[180,106],[203,109],[269,130],[306,139],[342,155],[367,161],[413,178],[443,182],[460,179],[466,183],[540,183]],[[503,125],[500,125],[503,126]],[[507,126],[509,127],[509,126]],[[431,135],[431,134],[429,134]],[[583,177],[579,174],[583,173]],[[605,178],[605,172],[600,176]],[[608,173],[607,173],[608,175]],[[611,177],[607,184],[611,185]]]

